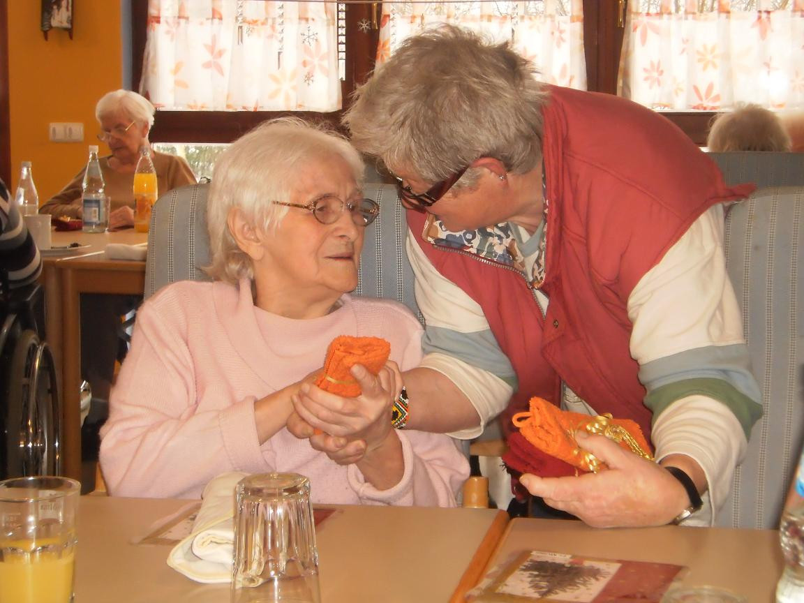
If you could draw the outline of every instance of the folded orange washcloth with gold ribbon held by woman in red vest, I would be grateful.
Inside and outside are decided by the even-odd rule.
[[[650,455],[650,445],[642,435],[642,429],[639,429],[639,425],[630,419],[613,419],[610,416],[604,416],[601,421],[601,417],[563,411],[547,400],[534,397],[531,398],[530,412],[517,413],[513,422],[519,427],[519,432],[523,437],[540,452],[560,459],[582,471],[596,470],[595,463],[599,461],[578,449],[575,432],[579,429],[590,431],[587,429],[588,426],[596,423],[604,428],[608,425],[610,429],[608,433],[604,433],[603,429],[592,429],[592,433],[603,433],[632,452],[634,452],[633,445],[636,444],[642,450],[643,456]],[[625,430],[627,435],[622,430]],[[631,439],[631,444],[629,444],[629,439]]]

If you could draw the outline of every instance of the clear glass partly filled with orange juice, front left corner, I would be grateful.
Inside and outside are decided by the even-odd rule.
[[[72,601],[80,491],[69,478],[0,482],[0,601]]]

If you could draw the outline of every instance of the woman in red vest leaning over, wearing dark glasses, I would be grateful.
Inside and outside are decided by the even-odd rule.
[[[711,523],[761,416],[723,248],[724,202],[753,187],[726,187],[650,109],[544,84],[508,44],[457,27],[405,40],[343,121],[408,208],[426,322],[403,374],[408,427],[470,439],[502,413],[511,433],[532,396],[610,412],[656,461],[579,433],[609,470],[523,474],[523,501],[527,488],[599,527]],[[293,433],[338,452],[297,416]]]

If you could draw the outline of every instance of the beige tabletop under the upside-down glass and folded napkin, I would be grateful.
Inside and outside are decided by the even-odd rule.
[[[170,546],[131,544],[187,503],[81,497],[76,601],[228,603],[228,585],[202,585],[169,568]],[[334,508],[316,529],[326,603],[445,603],[507,521],[494,509]]]

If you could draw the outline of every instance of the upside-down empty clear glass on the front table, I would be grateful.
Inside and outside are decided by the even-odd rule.
[[[236,487],[232,603],[320,603],[310,482],[259,474]]]

